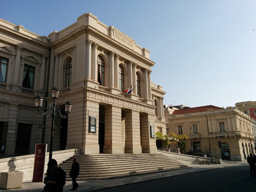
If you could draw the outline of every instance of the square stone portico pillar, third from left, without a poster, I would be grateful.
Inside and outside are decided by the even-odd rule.
[[[139,112],[125,111],[125,153],[141,153]]]

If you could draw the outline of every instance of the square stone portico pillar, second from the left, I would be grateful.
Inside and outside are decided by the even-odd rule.
[[[123,153],[121,138],[121,108],[109,106],[105,108],[104,153]]]

